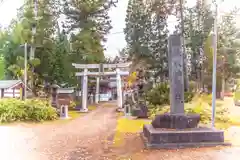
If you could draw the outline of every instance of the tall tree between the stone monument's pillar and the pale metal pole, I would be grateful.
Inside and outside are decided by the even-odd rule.
[[[204,0],[203,0],[204,1]],[[184,7],[184,38],[186,54],[191,57],[189,60],[190,80],[203,80],[201,50],[213,27],[213,15],[210,6],[202,1],[197,1],[192,8]],[[179,30],[180,26],[178,26]]]

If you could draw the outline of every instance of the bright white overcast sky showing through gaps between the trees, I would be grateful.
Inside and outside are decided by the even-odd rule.
[[[24,0],[5,0],[0,6],[0,25],[7,26],[11,19],[16,17],[17,9],[23,4]],[[188,0],[188,5],[194,5],[196,0]],[[113,29],[108,35],[108,41],[106,43],[107,51],[106,56],[114,57],[118,53],[118,50],[126,45],[123,28],[125,27],[125,16],[127,9],[128,0],[119,0],[116,8],[112,8],[110,11],[110,16],[112,19]],[[234,6],[240,8],[240,0],[225,0],[225,2],[220,6],[220,13],[228,12]],[[240,17],[238,16],[238,19]],[[172,32],[175,26],[175,18],[169,18],[169,29]],[[240,20],[237,22],[240,26]]]

